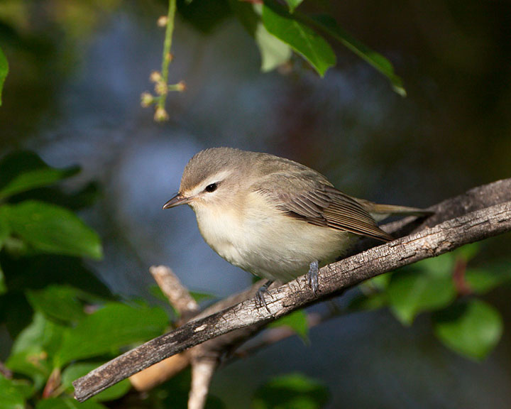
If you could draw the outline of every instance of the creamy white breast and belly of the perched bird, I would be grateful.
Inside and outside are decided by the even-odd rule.
[[[243,209],[243,210],[240,210]],[[293,219],[257,192],[243,206],[194,206],[204,240],[235,266],[282,282],[307,273],[309,263],[333,261],[351,241],[349,234]]]

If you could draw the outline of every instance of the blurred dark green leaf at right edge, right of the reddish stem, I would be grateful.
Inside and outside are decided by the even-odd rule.
[[[468,268],[465,280],[474,293],[485,294],[493,288],[511,281],[511,263],[493,263],[484,268]]]

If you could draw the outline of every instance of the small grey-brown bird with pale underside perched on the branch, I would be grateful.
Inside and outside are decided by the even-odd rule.
[[[427,213],[356,199],[300,163],[234,148],[209,148],[189,160],[179,192],[163,209],[185,204],[211,249],[268,279],[258,293],[263,304],[274,280],[305,273],[317,293],[319,267],[339,258],[356,236],[391,241],[377,221]]]

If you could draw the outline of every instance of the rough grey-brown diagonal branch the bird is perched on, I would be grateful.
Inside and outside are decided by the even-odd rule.
[[[331,298],[368,278],[510,231],[511,179],[470,190],[441,202],[432,210],[436,214],[422,226],[407,219],[386,227],[387,231],[416,232],[322,268],[318,296],[314,296],[302,276],[271,290],[266,297],[268,309],[258,307],[251,298],[207,317],[201,315],[77,379],[73,383],[75,397],[86,400],[133,373],[219,335],[233,330],[257,331],[271,320]]]

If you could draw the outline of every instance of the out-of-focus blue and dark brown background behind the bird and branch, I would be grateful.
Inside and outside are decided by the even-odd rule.
[[[152,91],[165,1],[0,1],[9,60],[0,155],[34,150],[50,165],[78,164],[73,182],[101,195],[81,216],[105,256],[91,263],[115,293],[150,297],[148,266],[166,264],[190,290],[221,298],[251,276],[217,256],[191,209],[163,212],[197,151],[233,146],[297,160],[350,195],[427,207],[511,175],[511,8],[505,1],[305,1],[389,58],[408,97],[331,42],[324,79],[295,58],[260,72],[253,38],[218,2],[201,28],[178,14],[170,121],[155,124]],[[510,235],[485,241],[476,263],[510,258]],[[402,327],[386,310],[348,315],[220,369],[211,392],[247,407],[265,379],[300,371],[329,386],[329,408],[510,408],[511,289],[486,297],[505,319],[482,363],[443,347],[427,317]]]

